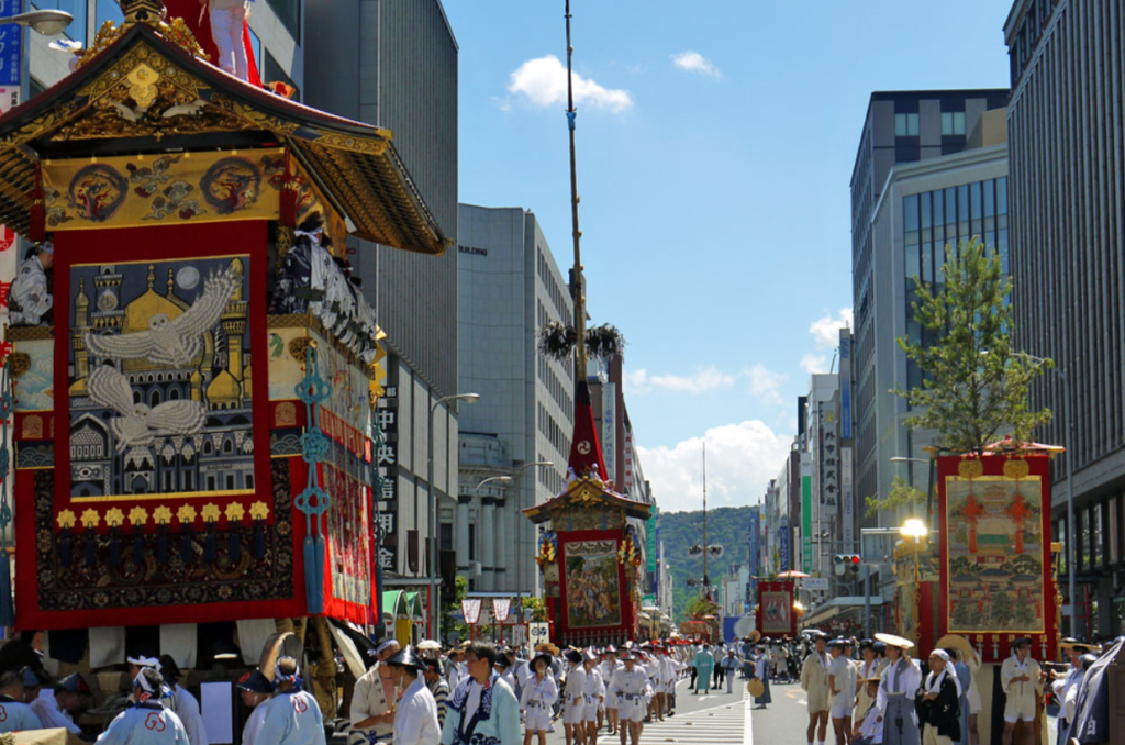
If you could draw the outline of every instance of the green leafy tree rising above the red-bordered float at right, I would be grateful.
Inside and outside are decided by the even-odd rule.
[[[1051,410],[1032,411],[1028,387],[1053,362],[1012,348],[1011,280],[999,255],[976,239],[960,252],[946,246],[940,275],[936,286],[914,278],[911,308],[925,333],[898,340],[924,374],[921,387],[894,392],[917,412],[907,425],[933,430],[934,445],[952,454],[983,455],[1005,433],[1030,439],[1051,421]]]

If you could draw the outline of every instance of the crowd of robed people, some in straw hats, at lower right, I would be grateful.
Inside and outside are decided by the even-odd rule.
[[[1118,638],[1114,649],[1123,641]],[[982,693],[976,649],[964,637],[947,635],[918,661],[910,657],[914,646],[891,634],[860,641],[829,639],[816,630],[804,631],[799,640],[755,635],[745,640],[744,668],[758,681],[752,683],[758,707],[772,702],[771,682],[800,681],[808,695],[809,745],[825,745],[829,722],[836,745],[979,745],[988,722],[978,724]],[[1001,745],[1035,742],[1045,688],[1059,707],[1056,742],[1098,727],[1105,731],[1097,703],[1104,694],[1084,684],[1100,647],[1063,639],[1061,648],[1068,658],[1064,671],[1056,670],[1060,665],[1041,667],[1032,657],[1029,638],[1011,641],[1010,656],[997,672],[1004,707],[993,716],[1004,720]]]

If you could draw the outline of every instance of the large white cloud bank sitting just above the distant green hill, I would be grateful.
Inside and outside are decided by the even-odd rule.
[[[792,443],[792,437],[775,434],[764,422],[750,420],[709,429],[703,438],[690,438],[670,448],[638,448],[660,511],[703,508],[704,439],[709,508],[762,501],[770,479],[776,478],[784,466]]]

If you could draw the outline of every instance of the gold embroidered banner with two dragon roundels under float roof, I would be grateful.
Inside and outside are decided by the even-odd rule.
[[[46,227],[277,219],[284,180],[279,147],[46,161]]]

